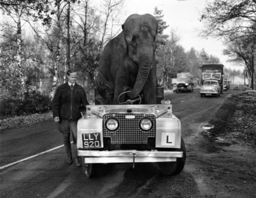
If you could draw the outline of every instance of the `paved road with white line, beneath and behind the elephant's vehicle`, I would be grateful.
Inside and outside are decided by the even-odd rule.
[[[174,114],[181,120],[184,141],[189,152],[191,137],[197,136],[202,126],[214,117],[227,97],[200,98],[198,90],[193,93],[167,93]],[[40,152],[60,146],[62,137],[54,122],[7,130],[0,134],[0,166],[28,158]],[[158,181],[159,188],[166,177],[153,164],[107,166],[100,177],[88,179],[81,168],[65,162],[63,147],[37,157],[0,169],[1,197],[127,197],[141,193],[144,186]],[[188,164],[187,164],[188,163]],[[181,175],[189,176],[189,161]],[[195,181],[196,182],[196,181]],[[155,185],[158,185],[155,184]]]

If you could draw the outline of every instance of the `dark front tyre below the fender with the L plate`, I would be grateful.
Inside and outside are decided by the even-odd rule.
[[[177,158],[176,162],[158,162],[157,167],[162,174],[174,175],[183,170],[186,161],[186,148],[183,138],[181,138],[181,147],[175,149],[175,151],[183,151],[183,157]]]

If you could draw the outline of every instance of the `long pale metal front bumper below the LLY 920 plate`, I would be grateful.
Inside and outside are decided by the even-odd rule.
[[[182,151],[141,151],[141,150],[77,150],[84,157],[84,163],[136,163],[136,162],[175,162],[182,158]]]

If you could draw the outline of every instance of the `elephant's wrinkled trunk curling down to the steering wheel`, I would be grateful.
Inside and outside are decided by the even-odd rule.
[[[144,87],[148,74],[152,68],[153,63],[153,47],[143,46],[138,50],[138,74],[133,87],[133,90],[127,95],[130,98],[136,98]]]

